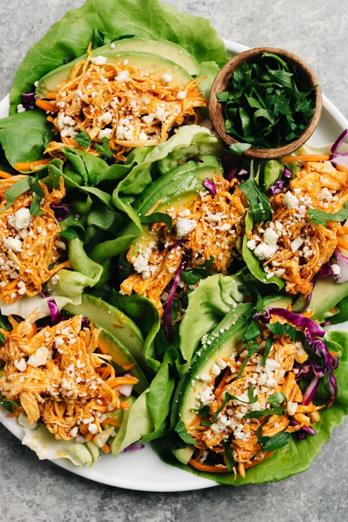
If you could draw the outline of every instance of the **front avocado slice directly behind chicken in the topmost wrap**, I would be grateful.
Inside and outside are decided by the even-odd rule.
[[[86,55],[84,56],[86,59]],[[94,56],[98,56],[98,54]],[[81,58],[83,60],[83,56]],[[66,65],[61,65],[61,67],[53,69],[43,76],[38,82],[38,87],[35,91],[36,95],[39,98],[45,98],[47,92],[57,91],[62,82],[69,78],[74,62],[79,62],[81,58]],[[110,54],[106,58],[107,63],[123,64],[127,70],[135,69],[139,75],[148,74],[155,81],[163,82],[163,75],[169,75],[172,79],[171,84],[178,86],[180,89],[185,89],[192,80],[186,69],[156,54],[122,51]]]

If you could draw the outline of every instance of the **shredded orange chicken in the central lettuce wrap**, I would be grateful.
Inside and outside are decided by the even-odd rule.
[[[209,270],[213,274],[226,274],[242,236],[247,203],[235,180],[230,183],[217,176],[214,185],[217,189],[215,196],[197,194],[189,208],[165,210],[172,217],[172,233],[164,223],[153,223],[153,241],[142,251],[136,252],[133,246],[130,247],[127,259],[136,272],[122,282],[122,294],[135,292],[145,295],[162,315],[161,296],[187,253],[186,269],[196,268],[213,256]]]

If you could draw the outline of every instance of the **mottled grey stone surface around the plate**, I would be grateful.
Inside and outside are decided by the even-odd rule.
[[[100,3],[102,8],[102,0]],[[29,47],[82,0],[0,0],[0,99]],[[344,0],[171,0],[211,19],[221,37],[273,45],[302,56],[323,93],[348,117]],[[278,483],[182,493],[111,488],[38,461],[0,426],[0,520],[16,522],[345,522],[348,520],[348,423],[333,431],[311,469]],[[151,473],[151,470],[149,470]]]

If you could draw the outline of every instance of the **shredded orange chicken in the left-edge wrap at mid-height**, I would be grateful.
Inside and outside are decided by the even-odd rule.
[[[24,177],[0,180],[0,209],[6,207],[7,189]],[[52,209],[52,204],[60,203],[65,196],[63,178],[59,190],[49,192],[44,183],[40,187],[44,193],[40,201],[42,214],[30,213],[31,191],[17,196],[12,205],[0,212],[0,299],[5,303],[39,293],[44,282],[59,269],[70,266],[64,254],[66,245],[59,236],[61,227]]]

